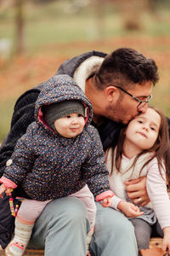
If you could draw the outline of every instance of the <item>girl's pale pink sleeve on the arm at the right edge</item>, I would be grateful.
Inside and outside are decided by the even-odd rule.
[[[161,168],[160,174],[156,158],[148,165],[146,189],[161,229],[170,226],[170,201],[167,194],[165,168]]]

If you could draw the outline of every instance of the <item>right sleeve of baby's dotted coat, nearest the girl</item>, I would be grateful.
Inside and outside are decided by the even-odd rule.
[[[110,189],[109,172],[105,166],[105,153],[99,133],[93,126],[88,127],[91,147],[87,159],[82,164],[82,173],[89,189],[96,197]]]

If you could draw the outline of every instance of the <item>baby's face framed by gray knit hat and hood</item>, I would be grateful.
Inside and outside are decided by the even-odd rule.
[[[54,122],[56,131],[62,137],[76,137],[84,128],[85,119],[80,113],[70,113]]]

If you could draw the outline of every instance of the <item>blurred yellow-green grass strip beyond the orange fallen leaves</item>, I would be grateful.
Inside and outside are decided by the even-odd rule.
[[[72,14],[71,7],[68,12],[69,4],[71,2],[66,0],[36,6],[25,3],[25,42],[28,54],[37,52],[44,44],[67,44],[99,38],[94,7],[87,6]],[[13,42],[14,14],[14,8],[0,14],[0,38],[9,38]],[[143,29],[129,32],[123,28],[123,14],[117,10],[116,5],[105,4],[100,22],[102,38],[169,36],[170,10],[160,9],[159,15],[160,18],[156,19],[147,11],[139,13]]]

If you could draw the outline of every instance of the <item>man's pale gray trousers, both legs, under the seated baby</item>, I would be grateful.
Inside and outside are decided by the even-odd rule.
[[[94,256],[137,256],[133,224],[121,212],[97,205],[91,253]],[[45,248],[45,256],[85,256],[90,229],[82,201],[64,197],[51,201],[34,226],[30,245]]]

